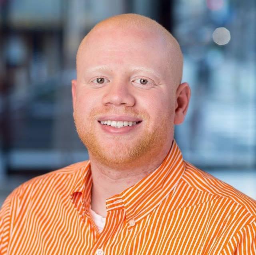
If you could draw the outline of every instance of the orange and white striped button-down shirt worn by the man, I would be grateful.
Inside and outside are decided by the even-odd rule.
[[[25,182],[0,211],[1,255],[255,254],[256,201],[182,158],[176,141],[154,172],[90,213],[90,160]]]

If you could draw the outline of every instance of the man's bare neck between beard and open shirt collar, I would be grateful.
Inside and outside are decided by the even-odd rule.
[[[90,156],[93,182],[92,210],[102,217],[106,217],[106,199],[121,193],[154,172],[163,162],[169,150],[170,146],[167,146],[161,152],[158,151],[157,154],[154,154],[155,156],[150,155],[143,161],[136,162],[136,166],[123,166],[120,168],[122,170],[103,166]]]

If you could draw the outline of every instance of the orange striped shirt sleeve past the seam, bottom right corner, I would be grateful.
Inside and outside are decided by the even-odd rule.
[[[225,255],[256,255],[256,221],[245,225],[228,242]]]

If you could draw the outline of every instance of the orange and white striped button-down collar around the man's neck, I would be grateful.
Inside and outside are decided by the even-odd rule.
[[[106,199],[107,212],[124,208],[126,222],[142,219],[172,192],[184,171],[182,153],[173,139],[168,154],[156,170],[121,193]],[[74,182],[71,197],[75,192],[81,192],[84,206],[90,208],[92,189],[90,160],[76,172]]]

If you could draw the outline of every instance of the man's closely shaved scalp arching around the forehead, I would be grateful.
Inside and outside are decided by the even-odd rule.
[[[112,16],[103,20],[96,24],[90,30],[90,32],[84,37],[82,42],[78,47],[78,52],[76,55],[76,67],[77,70],[79,68],[79,61],[82,58],[82,53],[86,48],[86,44],[88,41],[97,34],[97,32],[106,29],[114,29],[116,31],[122,30],[126,31],[127,33],[132,33],[134,29],[139,29],[143,31],[147,31],[149,34],[152,34],[150,40],[154,40],[154,38],[158,37],[160,40],[164,42],[164,49],[166,60],[167,60],[167,69],[170,75],[172,76],[172,80],[175,87],[177,88],[178,85],[181,83],[182,79],[182,69],[183,69],[183,57],[182,52],[180,49],[180,45],[176,41],[176,39],[166,30],[163,26],[161,26],[155,20],[152,20],[148,17],[139,15],[139,14],[120,14],[117,16]],[[161,49],[155,49],[156,54]],[[166,61],[163,59],[163,61]]]

